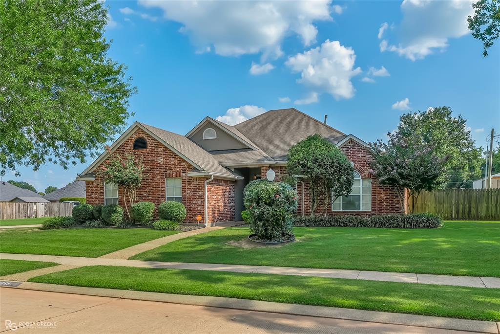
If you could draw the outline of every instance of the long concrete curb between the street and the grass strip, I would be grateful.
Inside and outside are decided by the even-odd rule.
[[[366,322],[379,322],[386,324],[398,324],[409,326],[420,326],[427,328],[439,328],[449,330],[463,330],[470,332],[482,332],[500,334],[497,324],[493,321],[465,320],[456,318],[445,318],[428,315],[414,315],[403,313],[390,313],[367,311],[350,308],[285,304],[270,301],[258,301],[249,299],[194,296],[182,294],[170,294],[160,292],[143,292],[132,290],[118,290],[108,288],[80,287],[59,284],[23,282],[18,286],[2,285],[3,287],[37,290],[47,292],[84,294],[101,297],[113,297],[132,300],[147,300],[167,302],[174,304],[186,304],[197,306],[209,306],[219,308],[231,308],[258,312],[282,313],[291,315],[305,315],[325,317],[344,320],[356,320]]]

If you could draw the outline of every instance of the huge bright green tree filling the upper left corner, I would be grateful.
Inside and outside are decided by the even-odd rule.
[[[0,170],[83,163],[130,116],[135,92],[107,57],[99,0],[0,4]]]

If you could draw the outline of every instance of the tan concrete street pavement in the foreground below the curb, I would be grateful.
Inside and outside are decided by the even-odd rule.
[[[0,297],[0,331],[15,333],[459,332],[13,288],[0,288]]]

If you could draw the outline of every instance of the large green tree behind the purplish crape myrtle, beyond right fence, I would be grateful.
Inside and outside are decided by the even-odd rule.
[[[403,114],[396,130],[403,138],[418,138],[437,158],[446,158],[441,184],[452,178],[472,180],[480,173],[481,149],[475,147],[466,120],[452,112],[444,106]]]

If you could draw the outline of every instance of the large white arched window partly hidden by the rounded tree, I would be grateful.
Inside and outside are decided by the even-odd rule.
[[[354,171],[354,182],[347,196],[338,197],[331,204],[332,211],[370,211],[371,210],[371,179],[361,179]]]

